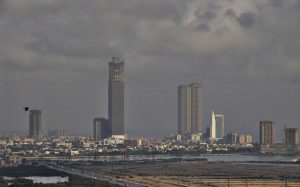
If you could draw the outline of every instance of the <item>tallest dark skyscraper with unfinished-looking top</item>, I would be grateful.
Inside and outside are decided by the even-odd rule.
[[[124,60],[109,62],[108,124],[110,135],[124,136]]]

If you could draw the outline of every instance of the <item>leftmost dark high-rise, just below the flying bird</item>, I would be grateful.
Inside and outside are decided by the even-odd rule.
[[[41,110],[29,111],[29,137],[40,139],[42,136],[42,112]]]

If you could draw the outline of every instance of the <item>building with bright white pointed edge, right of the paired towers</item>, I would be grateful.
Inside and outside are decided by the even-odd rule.
[[[215,114],[215,112],[212,111],[210,127],[211,139],[222,139],[224,137],[224,123],[224,115]]]

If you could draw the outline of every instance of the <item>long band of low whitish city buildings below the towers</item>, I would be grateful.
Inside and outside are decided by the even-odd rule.
[[[0,166],[20,164],[23,159],[70,159],[93,158],[111,155],[156,155],[156,154],[205,154],[234,153],[252,145],[208,144],[198,140],[177,141],[175,137],[157,139],[104,139],[94,141],[88,136],[43,137],[41,140],[28,137],[0,138]],[[240,151],[241,152],[241,151]]]

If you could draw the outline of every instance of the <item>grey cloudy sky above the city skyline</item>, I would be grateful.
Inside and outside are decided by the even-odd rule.
[[[107,116],[108,62],[125,59],[125,128],[177,132],[177,86],[203,88],[225,131],[300,128],[299,0],[0,0],[0,133],[92,134]]]

